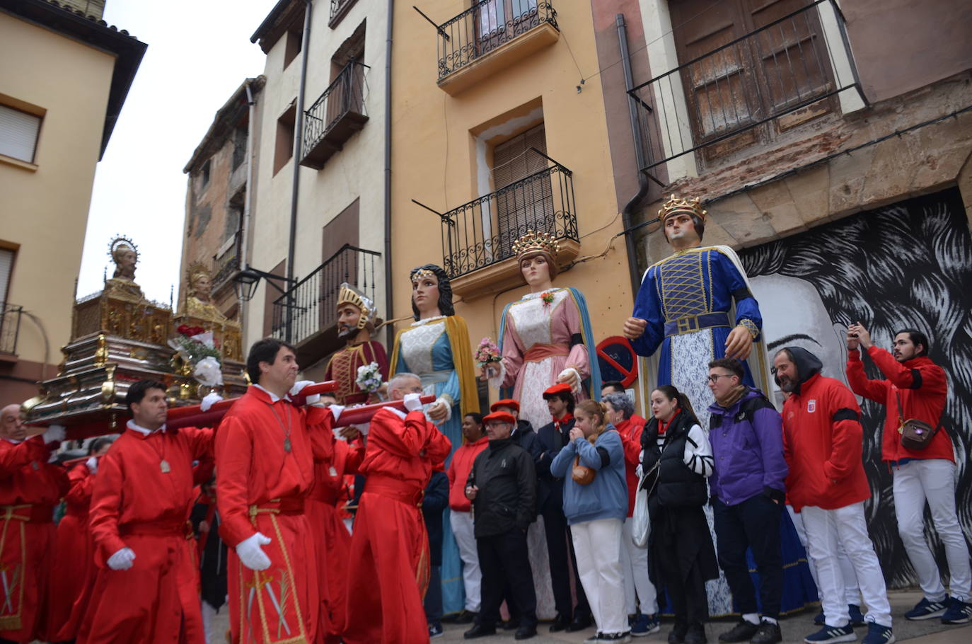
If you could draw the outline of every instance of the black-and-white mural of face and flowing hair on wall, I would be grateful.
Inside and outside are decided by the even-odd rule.
[[[958,463],[955,501],[972,535],[972,237],[956,188],[852,215],[740,253],[763,313],[772,355],[798,345],[816,353],[823,375],[847,382],[847,327],[860,321],[890,348],[894,332],[923,331],[929,357],[949,376],[943,421]],[[865,356],[868,377],[880,372]],[[777,391],[777,402],[781,402]],[[859,399],[858,399],[859,400]],[[885,407],[862,402],[867,517],[888,585],[916,584],[898,537],[891,473],[881,460]],[[925,534],[945,570],[944,549],[925,511]]]

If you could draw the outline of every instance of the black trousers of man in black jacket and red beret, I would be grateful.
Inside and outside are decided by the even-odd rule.
[[[537,593],[527,553],[527,533],[513,528],[492,537],[476,537],[476,553],[483,574],[476,624],[495,626],[500,621],[503,589],[508,587],[520,626],[537,626]]]

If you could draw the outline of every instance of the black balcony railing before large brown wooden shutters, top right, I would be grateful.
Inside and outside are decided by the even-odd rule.
[[[816,0],[631,89],[640,169],[661,184],[659,165],[848,89],[867,104],[846,19],[834,0]]]

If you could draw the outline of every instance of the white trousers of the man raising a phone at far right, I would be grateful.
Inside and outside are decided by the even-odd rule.
[[[955,463],[945,458],[908,461],[894,469],[894,514],[905,552],[915,566],[924,596],[945,599],[946,591],[935,557],[924,539],[924,504],[931,510],[952,575],[952,596],[969,601],[972,570],[969,551],[955,512]]]

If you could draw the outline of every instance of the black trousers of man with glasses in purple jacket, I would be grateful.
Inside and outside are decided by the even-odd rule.
[[[759,572],[759,599],[762,615],[780,617],[783,593],[783,557],[780,544],[782,505],[758,494],[740,504],[727,506],[712,501],[716,552],[719,567],[725,571],[736,609],[743,614],[758,613],[756,589],[749,576],[746,548],[752,551]]]

